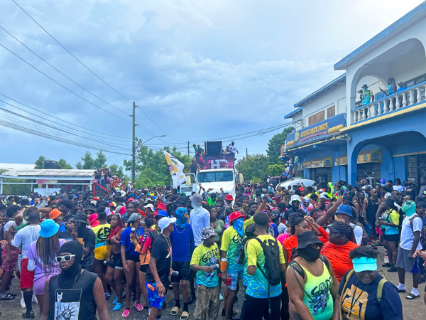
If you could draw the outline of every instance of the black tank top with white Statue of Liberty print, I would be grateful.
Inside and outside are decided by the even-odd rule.
[[[97,274],[83,270],[71,289],[59,287],[59,274],[49,282],[49,319],[50,320],[93,320],[96,319],[96,304],[93,286]]]

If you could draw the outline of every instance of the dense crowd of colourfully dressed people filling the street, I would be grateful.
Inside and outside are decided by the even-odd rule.
[[[35,317],[34,303],[42,319],[96,319],[96,311],[126,319],[146,309],[151,320],[163,312],[181,320],[403,319],[399,293],[415,300],[425,282],[421,183],[9,196],[0,204],[0,300],[16,299],[18,278],[25,319]],[[383,267],[398,272],[397,286]]]

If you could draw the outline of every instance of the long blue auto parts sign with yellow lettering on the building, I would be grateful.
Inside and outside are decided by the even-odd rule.
[[[308,142],[315,142],[320,139],[330,137],[332,134],[339,132],[340,129],[346,127],[346,114],[337,114],[334,117],[325,119],[312,126],[291,132],[285,140],[287,148],[299,146]]]

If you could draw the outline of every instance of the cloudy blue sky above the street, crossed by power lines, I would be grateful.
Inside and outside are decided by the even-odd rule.
[[[240,159],[265,154],[281,129],[241,134],[287,123],[342,74],[334,63],[422,2],[14,1],[0,11],[0,162],[73,166],[88,147],[108,164],[130,158],[133,101],[136,137],[154,150],[224,138]]]

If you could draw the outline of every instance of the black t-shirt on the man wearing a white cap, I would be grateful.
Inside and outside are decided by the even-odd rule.
[[[155,265],[157,266],[158,277],[164,286],[168,285],[170,267],[172,267],[172,245],[168,238],[160,233],[153,242],[151,247],[151,258],[155,259]],[[146,272],[146,282],[154,283],[155,279],[151,270],[148,269]]]

